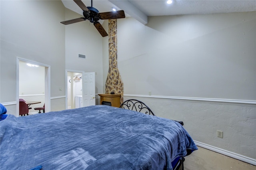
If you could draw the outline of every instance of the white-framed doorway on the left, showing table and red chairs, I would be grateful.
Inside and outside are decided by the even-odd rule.
[[[41,113],[50,111],[50,66],[17,57],[17,113],[20,116],[20,107],[28,107],[28,114],[39,112],[36,107],[44,107]],[[25,104],[21,103],[24,101]],[[27,109],[26,109],[27,110]],[[22,114],[23,115],[23,114]]]

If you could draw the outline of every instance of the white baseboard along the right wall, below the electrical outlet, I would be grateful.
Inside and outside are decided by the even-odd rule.
[[[228,150],[224,150],[224,149],[221,149],[221,148],[217,148],[215,146],[211,146],[211,145],[208,145],[208,144],[204,144],[202,142],[198,142],[198,141],[195,141],[195,144],[197,146],[200,146],[202,148],[206,148],[206,149],[209,149],[209,150],[212,150],[214,152],[217,152],[217,153],[220,153],[220,154],[223,154],[223,155],[226,155],[226,156],[229,156],[231,158],[235,158],[237,160],[241,160],[243,162],[246,162],[248,164],[252,164],[252,165],[255,165],[256,166],[256,160],[255,159],[252,159],[252,158],[249,158],[249,157],[246,157],[246,156],[243,156],[243,155],[240,155],[240,154],[236,154],[234,152],[230,152]]]

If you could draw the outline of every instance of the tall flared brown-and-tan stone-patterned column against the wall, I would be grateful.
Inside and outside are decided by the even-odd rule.
[[[124,87],[117,67],[117,34],[116,19],[108,20],[108,47],[109,47],[109,68],[105,84],[106,93],[114,92],[120,94],[120,103],[123,103]]]

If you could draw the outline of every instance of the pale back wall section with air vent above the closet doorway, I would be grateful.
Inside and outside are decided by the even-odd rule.
[[[66,9],[65,19],[80,18],[81,15]],[[95,73],[95,93],[103,93],[102,83],[102,38],[98,30],[88,20],[66,27],[66,69]],[[86,59],[78,58],[86,55]]]

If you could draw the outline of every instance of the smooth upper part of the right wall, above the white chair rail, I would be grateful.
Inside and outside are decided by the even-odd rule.
[[[256,100],[255,15],[118,20],[124,93]]]

